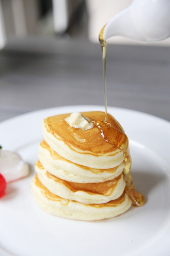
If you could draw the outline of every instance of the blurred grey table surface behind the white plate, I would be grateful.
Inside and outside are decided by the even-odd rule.
[[[108,45],[108,105],[170,121],[170,48]],[[12,39],[0,52],[0,121],[65,105],[103,105],[99,44]]]

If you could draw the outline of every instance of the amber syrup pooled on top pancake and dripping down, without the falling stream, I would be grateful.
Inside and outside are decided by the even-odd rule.
[[[132,200],[132,204],[134,206],[139,207],[144,205],[145,198],[141,193],[135,190],[132,182],[132,176],[130,174],[130,167],[132,161],[129,153],[128,137],[122,130],[118,129],[117,126],[114,127],[107,122],[93,120],[93,123],[100,130],[100,134],[106,142],[108,142],[115,148],[119,148],[124,152],[124,178],[126,181],[126,193]]]

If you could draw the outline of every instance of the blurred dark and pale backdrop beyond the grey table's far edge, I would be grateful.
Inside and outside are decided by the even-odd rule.
[[[0,0],[0,46],[30,35],[84,38],[98,43],[100,29],[132,0]],[[136,44],[116,37],[109,43]],[[150,44],[152,45],[152,43]],[[170,45],[170,39],[155,45]]]

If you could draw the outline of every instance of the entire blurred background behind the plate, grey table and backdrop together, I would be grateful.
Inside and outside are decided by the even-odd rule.
[[[0,0],[0,121],[40,108],[104,104],[100,29],[132,0]],[[108,105],[170,120],[170,39],[114,37]]]

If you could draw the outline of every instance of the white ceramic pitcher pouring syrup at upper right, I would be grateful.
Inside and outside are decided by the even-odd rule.
[[[104,39],[113,36],[143,43],[170,37],[170,0],[133,0],[106,24]]]

